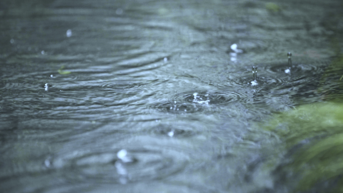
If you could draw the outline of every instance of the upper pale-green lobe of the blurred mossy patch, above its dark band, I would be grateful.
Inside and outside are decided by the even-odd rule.
[[[290,147],[309,137],[340,132],[341,125],[343,104],[317,103],[277,114],[266,129],[277,132]]]

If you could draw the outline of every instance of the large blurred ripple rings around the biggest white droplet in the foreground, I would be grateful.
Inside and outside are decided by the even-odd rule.
[[[184,170],[190,157],[196,160],[189,147],[170,146],[164,139],[140,136],[131,140],[135,141],[134,145],[124,142],[113,144],[112,148],[106,142],[88,147],[89,150],[65,151],[54,158],[48,157],[44,162],[48,163],[45,165],[49,169],[70,170],[66,172],[66,178],[70,181],[130,183],[170,176]],[[105,147],[107,145],[110,146]]]

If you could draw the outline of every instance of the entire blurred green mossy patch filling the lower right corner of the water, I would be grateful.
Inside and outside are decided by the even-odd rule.
[[[288,161],[280,167],[291,173],[289,181],[297,179],[297,191],[321,189],[324,184],[330,184],[326,192],[343,189],[343,104],[302,105],[277,114],[264,128],[284,143]]]

